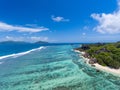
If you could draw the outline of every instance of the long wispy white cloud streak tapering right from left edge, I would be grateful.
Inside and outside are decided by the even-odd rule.
[[[7,23],[0,22],[0,31],[18,31],[18,32],[41,32],[49,30],[45,27],[36,27],[36,28],[30,28],[30,27],[23,27],[23,26],[15,26],[15,25],[9,25]]]

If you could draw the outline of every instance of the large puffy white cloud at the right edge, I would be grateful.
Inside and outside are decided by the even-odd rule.
[[[120,33],[120,0],[118,0],[118,10],[109,14],[92,14],[91,17],[98,21],[94,30],[100,33],[117,34]]]

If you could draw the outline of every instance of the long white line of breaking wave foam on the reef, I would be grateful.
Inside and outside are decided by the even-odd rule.
[[[41,50],[43,48],[45,48],[45,47],[41,46],[39,48],[35,48],[35,49],[29,50],[29,51],[26,51],[26,52],[21,52],[21,53],[16,53],[16,54],[10,54],[10,55],[6,55],[6,56],[1,56],[0,60],[4,59],[4,58],[8,58],[8,57],[14,57],[15,58],[15,57],[23,56],[25,54],[28,54],[28,53],[33,52],[33,51]]]

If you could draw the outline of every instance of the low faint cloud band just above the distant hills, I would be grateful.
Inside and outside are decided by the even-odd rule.
[[[6,36],[5,38],[1,39],[2,41],[26,41],[26,42],[36,42],[36,41],[48,41],[48,37],[38,37],[38,36],[29,36],[29,37],[13,37],[13,36]]]

